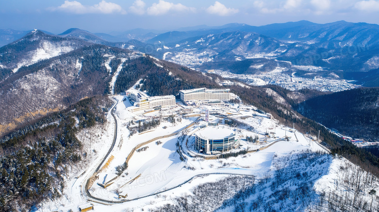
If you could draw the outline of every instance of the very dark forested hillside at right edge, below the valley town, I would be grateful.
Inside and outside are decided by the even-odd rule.
[[[327,128],[378,142],[379,88],[358,88],[308,99],[295,109]]]

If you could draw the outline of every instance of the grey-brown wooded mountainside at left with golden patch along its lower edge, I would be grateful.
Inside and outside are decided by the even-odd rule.
[[[71,41],[56,39],[63,39],[61,44]],[[65,46],[64,50],[70,49]],[[81,98],[110,93],[112,77],[118,65],[123,65],[118,61],[131,57],[129,50],[100,45],[71,49],[66,54],[57,52],[61,55],[23,66],[1,82],[1,133],[66,108]]]

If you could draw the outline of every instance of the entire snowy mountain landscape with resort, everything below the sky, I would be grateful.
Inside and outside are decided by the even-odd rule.
[[[0,212],[378,211],[378,32],[2,30]]]

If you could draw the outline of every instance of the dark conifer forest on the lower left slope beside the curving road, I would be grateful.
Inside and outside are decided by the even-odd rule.
[[[0,145],[1,211],[28,211],[43,199],[61,196],[67,165],[86,157],[75,133],[104,124],[103,111],[111,104],[107,97],[85,98],[4,137]]]

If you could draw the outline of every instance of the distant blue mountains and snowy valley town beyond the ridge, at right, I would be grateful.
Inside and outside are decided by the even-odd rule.
[[[245,38],[256,33],[264,37],[263,43],[252,36]],[[232,23],[163,33],[147,43],[154,45],[148,53],[199,69],[238,74],[281,72],[305,79],[354,80],[364,86],[378,86],[378,34],[378,25],[345,21],[298,21],[260,27]],[[228,35],[236,36],[227,39]],[[212,46],[209,38],[217,45]],[[239,43],[240,39],[245,45]],[[257,45],[251,45],[252,41]],[[241,68],[240,61],[244,61]]]

